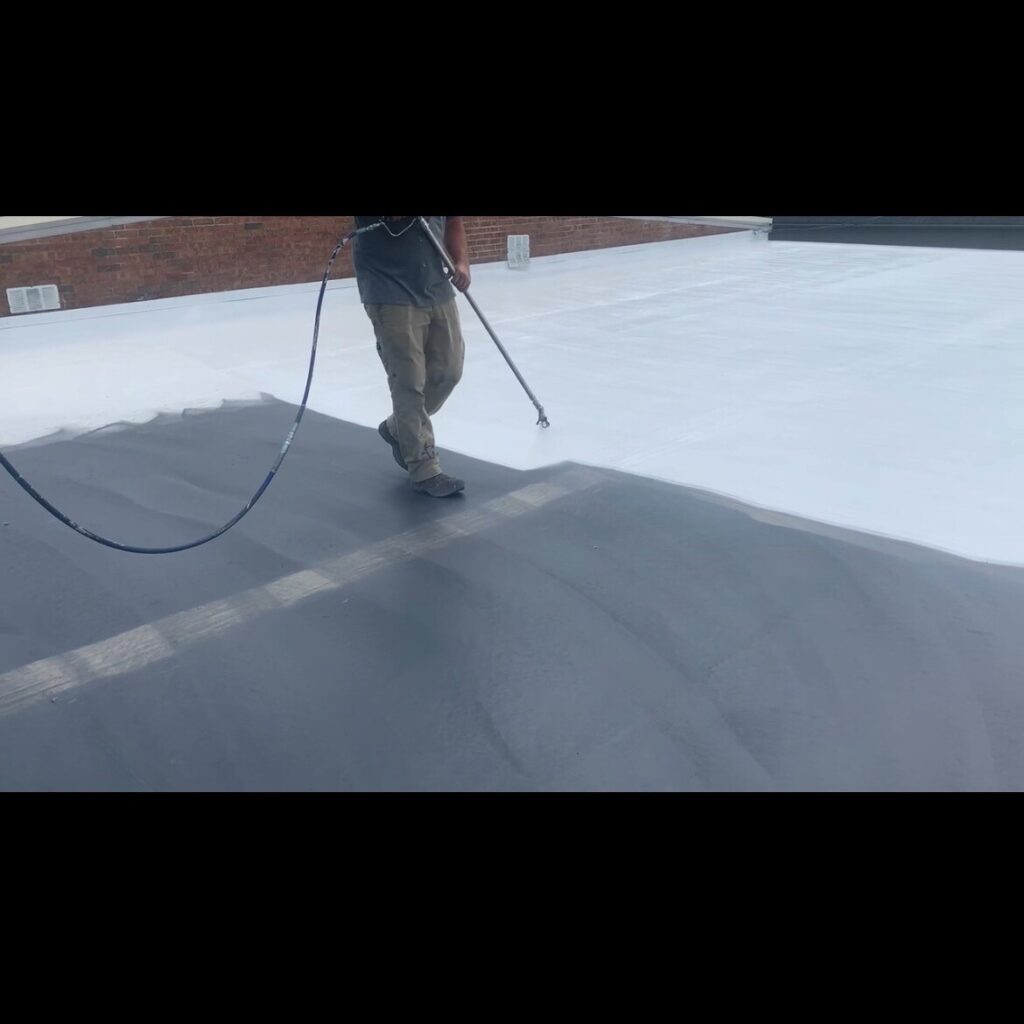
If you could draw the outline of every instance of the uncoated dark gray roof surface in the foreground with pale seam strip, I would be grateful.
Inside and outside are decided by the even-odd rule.
[[[174,543],[293,413],[8,454],[84,525]],[[374,431],[308,414],[239,527],[158,557],[4,476],[0,788],[1024,787],[1024,570],[621,473],[445,468],[464,498],[414,495]]]

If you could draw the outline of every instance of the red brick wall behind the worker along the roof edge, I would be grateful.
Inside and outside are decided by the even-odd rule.
[[[351,217],[167,217],[0,244],[0,315],[7,288],[56,285],[61,307],[319,281]],[[467,217],[473,262],[504,260],[506,236],[531,256],[716,234],[722,228],[618,217]],[[332,278],[352,275],[345,250]],[[28,314],[31,315],[31,314]]]

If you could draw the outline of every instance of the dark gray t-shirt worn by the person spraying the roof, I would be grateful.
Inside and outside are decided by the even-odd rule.
[[[380,219],[356,217],[355,226],[366,227]],[[447,217],[425,219],[443,244]],[[359,234],[352,242],[352,263],[362,303],[430,307],[454,299],[455,289],[444,274],[444,264],[417,218],[385,223],[386,227]]]

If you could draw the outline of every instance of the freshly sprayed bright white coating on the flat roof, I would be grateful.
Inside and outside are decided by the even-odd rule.
[[[1024,564],[1022,285],[1021,252],[752,232],[477,266],[472,294],[552,425],[536,426],[461,301],[466,372],[437,443]],[[318,287],[0,319],[0,446],[225,399],[297,402]],[[388,412],[350,280],[328,291],[309,404],[365,426]]]

